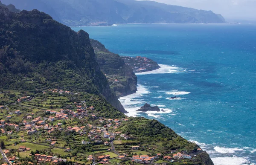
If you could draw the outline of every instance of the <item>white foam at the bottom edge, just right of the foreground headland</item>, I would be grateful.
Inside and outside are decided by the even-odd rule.
[[[211,158],[212,162],[215,165],[248,165],[249,161],[247,160],[247,157],[215,157]]]

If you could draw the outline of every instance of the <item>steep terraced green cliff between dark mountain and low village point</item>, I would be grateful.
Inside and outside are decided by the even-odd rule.
[[[110,87],[116,96],[126,96],[137,90],[137,76],[133,69],[125,65],[122,57],[109,52],[99,41],[91,39],[96,61],[102,72],[107,76]]]

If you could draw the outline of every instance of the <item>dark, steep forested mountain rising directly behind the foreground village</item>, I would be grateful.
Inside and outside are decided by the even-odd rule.
[[[0,88],[60,88],[104,96],[126,112],[96,62],[89,35],[38,10],[0,6]]]

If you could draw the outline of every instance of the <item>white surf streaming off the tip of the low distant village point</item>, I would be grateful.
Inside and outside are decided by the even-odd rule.
[[[158,64],[160,66],[159,69],[148,71],[148,72],[141,72],[136,73],[135,75],[148,75],[148,74],[164,74],[164,73],[179,73],[179,72],[186,72],[186,69],[173,67],[169,65]]]

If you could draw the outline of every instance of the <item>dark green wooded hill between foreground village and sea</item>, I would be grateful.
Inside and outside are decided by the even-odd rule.
[[[157,120],[143,117],[131,118],[131,122],[121,127],[122,133],[135,137],[140,142],[163,142],[166,150],[184,149],[195,151],[198,146],[178,136],[172,129]]]

